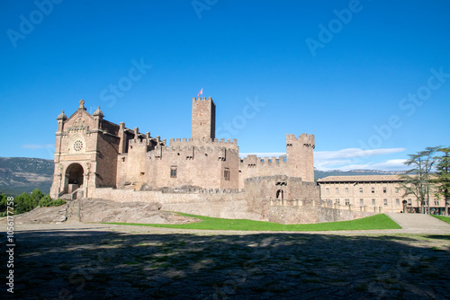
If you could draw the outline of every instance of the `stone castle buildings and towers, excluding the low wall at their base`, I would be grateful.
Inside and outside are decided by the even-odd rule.
[[[286,137],[286,158],[239,158],[236,139],[215,138],[216,106],[211,97],[193,98],[191,138],[142,134],[91,115],[84,101],[69,118],[58,116],[55,179],[51,196],[81,188],[84,197],[96,188],[139,189],[195,187],[244,190],[245,180],[259,176],[287,175],[314,181],[314,136]]]

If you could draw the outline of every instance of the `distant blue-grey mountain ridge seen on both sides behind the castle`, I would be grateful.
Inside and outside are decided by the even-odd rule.
[[[25,157],[0,157],[0,194],[16,196],[39,189],[49,193],[53,180],[52,160]],[[314,179],[327,176],[386,175],[401,172],[352,170],[352,171],[319,171],[314,170]]]

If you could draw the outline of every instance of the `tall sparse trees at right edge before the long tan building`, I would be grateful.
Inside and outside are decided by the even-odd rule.
[[[427,147],[417,154],[409,154],[405,162],[412,167],[402,174],[403,197],[413,195],[420,204],[420,213],[430,213],[429,199],[434,195],[445,201],[445,216],[450,205],[450,147]]]

